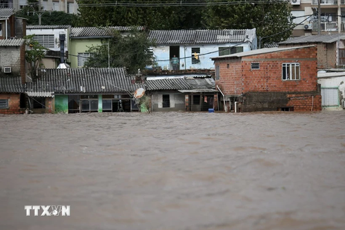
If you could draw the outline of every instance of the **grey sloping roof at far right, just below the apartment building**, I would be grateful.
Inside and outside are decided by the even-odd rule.
[[[279,45],[299,43],[333,43],[338,39],[345,39],[345,34],[318,34],[309,36],[297,36],[295,38],[282,41],[279,43]]]

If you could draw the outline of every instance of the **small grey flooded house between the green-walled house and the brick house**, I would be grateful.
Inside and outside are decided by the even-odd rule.
[[[152,112],[207,111],[214,108],[215,81],[210,76],[157,76],[145,81]]]

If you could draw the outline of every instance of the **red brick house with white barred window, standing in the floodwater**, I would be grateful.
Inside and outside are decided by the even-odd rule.
[[[265,48],[213,58],[220,109],[319,111],[317,48]],[[224,101],[226,103],[224,103]],[[236,107],[235,107],[236,106]]]

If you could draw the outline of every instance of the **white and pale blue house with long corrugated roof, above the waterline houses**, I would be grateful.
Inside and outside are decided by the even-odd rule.
[[[210,58],[257,49],[256,30],[151,30],[148,38],[156,43],[152,52],[156,65],[148,68],[173,70],[172,58],[179,59],[177,70],[210,70]]]

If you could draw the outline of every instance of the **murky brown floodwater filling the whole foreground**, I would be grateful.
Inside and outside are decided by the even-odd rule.
[[[0,229],[345,229],[345,111],[0,121]]]

